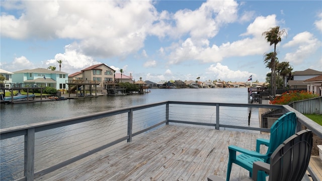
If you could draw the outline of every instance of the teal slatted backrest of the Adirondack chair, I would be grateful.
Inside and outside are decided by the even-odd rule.
[[[281,116],[271,127],[270,145],[267,149],[268,159],[276,148],[296,132],[296,114],[288,112]],[[269,162],[269,160],[265,160]]]

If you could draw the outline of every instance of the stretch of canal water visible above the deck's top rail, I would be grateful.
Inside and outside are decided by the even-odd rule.
[[[248,103],[247,88],[157,88],[148,94],[99,96],[92,99],[28,104],[2,104],[0,128],[72,118],[91,113],[162,101]]]

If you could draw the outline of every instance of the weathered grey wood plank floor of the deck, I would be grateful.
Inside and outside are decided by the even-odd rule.
[[[209,174],[225,178],[228,145],[254,150],[257,138],[269,135],[166,125],[46,180],[207,180]],[[246,169],[233,164],[230,180],[248,176]]]

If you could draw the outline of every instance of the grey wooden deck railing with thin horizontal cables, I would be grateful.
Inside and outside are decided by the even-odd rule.
[[[8,150],[19,149],[22,154],[21,157],[17,156],[2,164],[18,162],[23,165],[20,165],[20,172],[11,173],[9,179],[33,180],[117,143],[130,142],[138,134],[170,123],[210,126],[214,129],[269,131],[268,128],[259,128],[258,108],[281,109],[283,113],[295,112],[298,131],[304,125],[322,138],[320,125],[289,106],[167,101],[1,129],[1,150],[6,150],[3,154]],[[248,119],[252,111],[255,112],[255,118],[252,118],[254,120]],[[61,156],[70,147],[79,149]],[[48,158],[51,156],[53,158]],[[60,159],[57,159],[59,156]],[[19,158],[20,160],[16,160]],[[2,166],[10,168],[10,165]],[[313,180],[317,180],[310,167],[308,171]]]

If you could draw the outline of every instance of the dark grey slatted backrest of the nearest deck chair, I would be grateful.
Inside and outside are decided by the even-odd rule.
[[[269,180],[301,180],[309,164],[313,134],[302,130],[286,139],[271,156]]]

